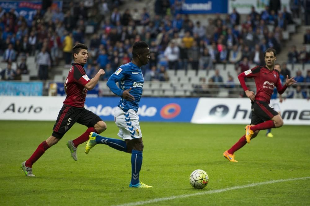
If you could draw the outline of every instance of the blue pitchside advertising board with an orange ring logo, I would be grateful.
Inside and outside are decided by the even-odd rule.
[[[114,120],[119,97],[86,98],[85,108],[102,120]],[[141,98],[140,121],[190,122],[199,98]]]

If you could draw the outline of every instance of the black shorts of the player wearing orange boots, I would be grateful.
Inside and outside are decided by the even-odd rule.
[[[271,120],[272,117],[278,115],[278,112],[275,111],[272,107],[266,102],[254,101],[252,104],[252,117],[251,124],[259,124],[268,120]]]

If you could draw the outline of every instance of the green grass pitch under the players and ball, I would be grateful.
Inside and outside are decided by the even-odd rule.
[[[63,139],[33,165],[35,178],[26,177],[20,163],[51,135],[54,122],[0,121],[0,205],[310,205],[310,179],[251,183],[310,177],[310,127],[273,129],[274,138],[261,131],[237,151],[237,163],[223,152],[244,134],[245,125],[141,122],[144,153],[140,180],[154,188],[129,188],[131,155],[107,145],[89,154],[78,147],[75,162],[66,142],[86,127],[76,124]],[[107,122],[103,136],[117,138]],[[193,170],[209,174],[202,190],[189,184]],[[234,186],[238,189],[228,190]],[[228,189],[227,189],[228,188]],[[224,189],[217,193],[209,191]],[[203,192],[202,194],[196,194]],[[196,194],[193,196],[186,196]],[[184,195],[184,196],[179,196]],[[175,199],[163,200],[156,198]],[[129,204],[132,203],[132,204]]]

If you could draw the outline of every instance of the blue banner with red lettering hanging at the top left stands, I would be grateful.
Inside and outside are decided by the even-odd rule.
[[[1,1],[0,6],[6,12],[15,9],[18,15],[24,16],[27,21],[32,21],[37,9],[42,9],[42,1]],[[62,10],[62,1],[53,1],[52,8]]]

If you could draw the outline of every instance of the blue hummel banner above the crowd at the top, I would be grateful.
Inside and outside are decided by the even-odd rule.
[[[228,0],[185,0],[181,14],[214,14],[228,12]]]

